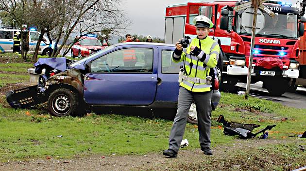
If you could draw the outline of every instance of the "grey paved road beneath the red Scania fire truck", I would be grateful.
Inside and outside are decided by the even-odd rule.
[[[237,94],[244,94],[246,84],[238,83]],[[306,88],[298,87],[295,93],[286,92],[285,94],[277,97],[269,96],[267,89],[262,88],[262,82],[251,84],[250,95],[261,99],[272,100],[280,102],[283,105],[287,105],[295,108],[306,109]]]

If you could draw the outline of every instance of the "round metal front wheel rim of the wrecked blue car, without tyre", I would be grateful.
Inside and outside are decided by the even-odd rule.
[[[59,95],[54,98],[52,107],[56,113],[66,114],[71,107],[71,103],[66,95]]]

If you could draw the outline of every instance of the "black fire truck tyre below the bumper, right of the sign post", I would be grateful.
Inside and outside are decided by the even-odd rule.
[[[279,96],[288,90],[289,81],[286,79],[269,79],[264,84],[271,96]]]

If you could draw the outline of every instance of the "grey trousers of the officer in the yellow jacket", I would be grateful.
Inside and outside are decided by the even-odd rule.
[[[169,148],[175,152],[179,151],[180,144],[183,140],[187,115],[190,105],[194,100],[198,114],[198,130],[201,150],[210,147],[210,115],[211,115],[211,96],[212,92],[191,92],[184,87],[180,87],[177,112],[173,121],[170,137]]]

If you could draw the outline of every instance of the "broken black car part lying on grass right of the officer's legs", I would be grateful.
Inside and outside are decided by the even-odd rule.
[[[259,125],[256,124],[240,124],[236,122],[228,122],[224,120],[224,116],[220,115],[217,122],[222,123],[224,126],[225,135],[238,135],[242,139],[254,138],[260,133],[265,133],[266,130],[271,130],[276,125],[267,126],[266,128],[260,130],[257,133],[252,133],[254,128],[258,128]]]

